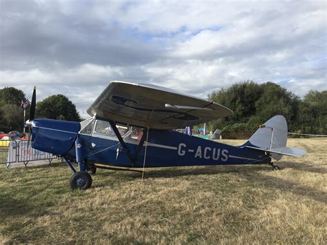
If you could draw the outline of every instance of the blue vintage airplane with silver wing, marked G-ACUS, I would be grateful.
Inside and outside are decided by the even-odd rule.
[[[97,168],[136,170],[166,166],[270,164],[282,155],[305,150],[286,147],[286,119],[277,115],[242,146],[229,146],[172,129],[185,128],[232,115],[213,101],[183,95],[150,84],[111,81],[88,108],[81,122],[34,119],[35,88],[30,119],[31,146],[59,155],[72,170],[71,188],[86,189]],[[72,163],[78,164],[78,171]],[[140,171],[140,170],[139,170]],[[141,171],[140,171],[141,172]]]

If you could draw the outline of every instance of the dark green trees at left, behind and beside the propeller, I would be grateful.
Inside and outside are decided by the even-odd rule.
[[[0,89],[0,131],[8,133],[23,131],[23,107],[26,95],[22,90],[13,87]],[[28,103],[28,102],[26,102]],[[26,120],[30,115],[30,106],[26,108]],[[80,121],[79,112],[65,95],[51,95],[37,102],[36,118]]]

